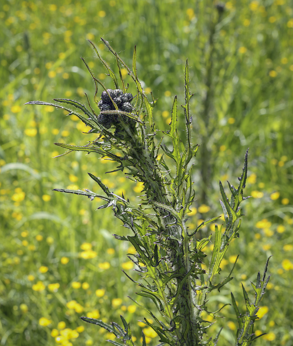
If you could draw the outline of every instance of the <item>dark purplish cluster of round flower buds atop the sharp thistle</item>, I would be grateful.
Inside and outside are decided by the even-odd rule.
[[[107,89],[107,91],[102,92],[101,101],[98,102],[98,107],[100,108],[101,112],[115,110],[114,103],[111,99],[115,102],[119,111],[127,113],[131,113],[133,111],[133,107],[130,103],[133,99],[131,93],[128,92],[124,94],[120,89]],[[110,128],[112,125],[119,123],[121,118],[125,123],[131,120],[127,116],[119,115],[119,113],[113,112],[112,114],[100,114],[98,116],[98,121],[106,128]]]

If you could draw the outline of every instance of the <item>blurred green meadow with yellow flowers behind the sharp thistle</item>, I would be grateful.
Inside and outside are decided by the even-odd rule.
[[[107,322],[123,315],[138,344],[142,329],[147,344],[158,344],[156,333],[139,322],[148,316],[127,298],[138,288],[121,269],[135,273],[126,256],[134,249],[112,236],[127,230],[112,210],[96,211],[101,204],[96,199],[52,191],[67,186],[98,191],[87,172],[132,201],[141,186],[121,172],[105,174],[115,166],[93,154],[52,158],[63,153],[54,142],[85,145],[94,134],[84,134],[87,128],[78,118],[52,106],[24,106],[53,98],[84,103],[84,92],[92,100],[94,83],[80,57],[113,88],[87,41],[114,64],[100,37],[130,66],[136,45],[138,75],[145,92],[158,98],[154,115],[162,130],[168,129],[176,94],[183,104],[188,58],[193,141],[201,143],[189,227],[221,215],[219,180],[226,189],[227,180],[236,183],[250,147],[245,192],[251,198],[244,203],[240,239],[222,262],[223,277],[240,257],[234,279],[210,304],[229,303],[233,291],[243,312],[241,282],[252,297],[250,281],[273,255],[256,322],[256,335],[268,334],[255,345],[293,345],[293,2],[223,5],[211,0],[1,2],[0,345],[105,345],[113,335],[82,322],[79,316],[85,315]],[[126,70],[122,73],[131,82]],[[211,233],[212,226],[202,235]],[[221,315],[209,333],[224,326],[218,345],[234,345],[232,308]]]

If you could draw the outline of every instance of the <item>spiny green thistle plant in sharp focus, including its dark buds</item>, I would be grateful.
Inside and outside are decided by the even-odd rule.
[[[134,48],[131,70],[109,43],[105,40],[103,42],[115,57],[120,82],[108,63],[100,56],[95,45],[90,42],[114,83],[113,89],[107,89],[95,77],[86,61],[82,59],[95,83],[95,108],[91,107],[87,95],[89,108],[70,99],[54,99],[57,103],[32,101],[27,104],[53,105],[68,111],[69,115],[76,115],[90,126],[89,133],[97,134],[97,138],[85,146],[55,143],[57,146],[67,149],[62,155],[72,151],[84,151],[96,153],[101,157],[106,156],[109,160],[116,162],[118,165],[114,171],[124,173],[128,179],[143,184],[141,203],[133,205],[123,193],[122,196],[114,194],[99,177],[91,173],[88,173],[89,176],[100,186],[103,193],[95,193],[88,189],[84,191],[55,189],[55,191],[85,195],[91,200],[96,197],[104,200],[105,204],[98,209],[111,207],[114,216],[120,219],[129,230],[129,235],[126,237],[117,234],[114,234],[114,237],[123,242],[130,242],[135,248],[136,254],[128,254],[128,257],[136,265],[135,271],[141,275],[141,279],[134,281],[131,276],[126,273],[125,275],[139,286],[138,295],[152,300],[156,311],[149,310],[136,302],[134,297],[129,298],[156,321],[156,323],[150,324],[145,318],[145,323],[158,334],[160,345],[216,345],[221,330],[216,335],[208,337],[208,328],[213,323],[202,319],[201,316],[205,311],[208,315],[217,317],[217,313],[221,309],[214,312],[209,311],[208,295],[213,290],[220,291],[233,279],[231,275],[238,257],[230,274],[222,281],[219,280],[220,264],[231,240],[239,238],[241,216],[243,215],[240,204],[248,198],[243,197],[247,177],[248,151],[245,154],[242,175],[238,178],[238,187],[235,188],[229,183],[230,199],[227,198],[220,182],[224,224],[220,226],[215,224],[214,237],[210,235],[201,238],[199,230],[216,221],[220,216],[203,221],[195,229],[189,230],[186,227],[188,213],[196,197],[193,190],[192,169],[193,160],[199,147],[198,144],[192,143],[190,129],[192,116],[189,102],[192,94],[189,90],[188,63],[186,62],[185,66],[185,104],[182,105],[186,126],[185,144],[177,132],[177,97],[172,106],[170,128],[163,132],[167,138],[167,142],[164,144],[163,138],[157,139],[158,129],[152,115],[156,100],[152,93],[151,100],[146,97],[137,77],[136,49]],[[135,83],[136,95],[133,96],[127,92],[128,85],[126,87],[122,78],[121,68],[127,70]],[[97,100],[99,85],[103,88],[100,101]],[[77,110],[72,110],[60,103],[74,106]],[[97,112],[96,106],[100,112]],[[205,247],[212,241],[214,247],[209,259],[209,268],[204,270],[202,264],[207,257]],[[245,313],[240,313],[231,293],[232,306],[239,325],[235,345],[251,345],[252,341],[259,337],[254,335],[254,323],[258,318],[256,315],[258,304],[269,280],[269,277],[265,278],[267,264],[264,274],[260,276],[258,273],[256,284],[251,283],[255,291],[253,301],[248,298],[242,285],[246,304]],[[225,304],[223,307],[226,305],[230,304]],[[116,346],[134,345],[130,324],[127,324],[122,316],[122,326],[116,322],[106,324],[99,319],[81,318],[113,333],[117,339],[108,340],[110,343]],[[142,344],[146,345],[143,334]]]

